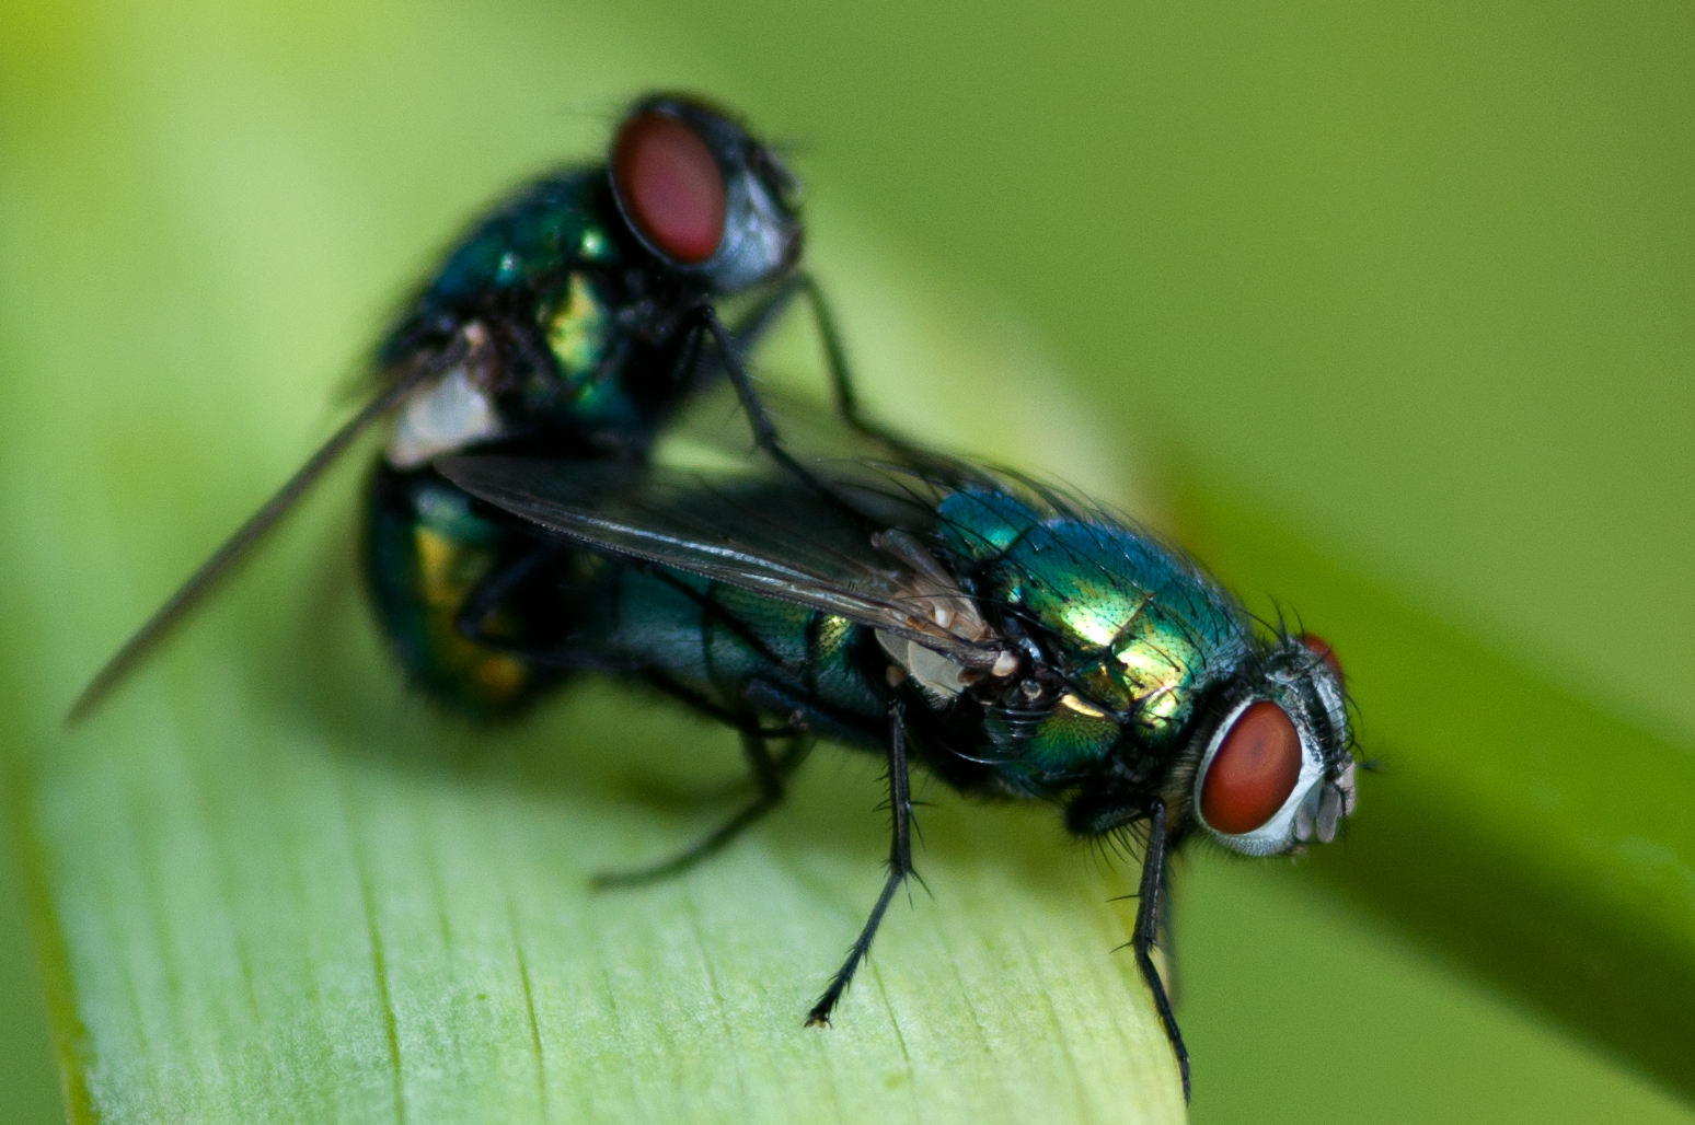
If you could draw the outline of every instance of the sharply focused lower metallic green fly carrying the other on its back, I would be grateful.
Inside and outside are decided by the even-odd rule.
[[[514,457],[439,469],[573,549],[534,605],[561,618],[537,659],[646,683],[741,734],[747,806],[603,883],[683,871],[775,808],[802,754],[773,740],[883,756],[888,878],[807,1015],[827,1023],[914,874],[909,768],[1049,801],[1078,837],[1142,844],[1131,945],[1186,1096],[1151,957],[1168,857],[1193,837],[1275,856],[1337,835],[1354,810],[1341,664],[1317,637],[1256,627],[1197,564],[1097,505],[937,456],[907,464],[832,463],[810,481]]]

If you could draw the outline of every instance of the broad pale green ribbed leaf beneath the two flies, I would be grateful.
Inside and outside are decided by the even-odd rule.
[[[1080,852],[1051,810],[922,791],[934,900],[892,912],[827,1032],[802,1017],[880,884],[875,759],[820,752],[720,861],[590,893],[725,813],[734,744],[592,683],[497,732],[408,698],[358,590],[356,464],[63,732],[102,656],[325,432],[373,293],[480,198],[593,151],[602,120],[556,107],[656,75],[585,12],[524,32],[378,8],[5,20],[29,112],[5,119],[0,173],[0,691],[75,1122],[1183,1117],[1114,956],[1134,867]],[[536,27],[597,64],[561,78]],[[373,107],[337,91],[361,66],[390,90],[434,76]],[[873,395],[988,449],[1064,434],[1032,459],[1120,483],[998,313],[842,234],[859,224],[827,197],[814,213]],[[775,363],[815,369],[803,334]]]

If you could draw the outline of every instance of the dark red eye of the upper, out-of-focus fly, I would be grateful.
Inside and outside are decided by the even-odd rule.
[[[637,114],[612,146],[612,180],[631,220],[666,258],[695,266],[724,239],[724,171],[700,136],[664,114]]]

